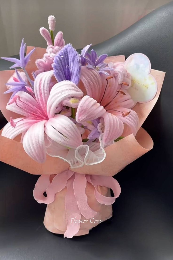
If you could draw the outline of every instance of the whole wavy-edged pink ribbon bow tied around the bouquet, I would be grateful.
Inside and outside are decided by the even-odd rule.
[[[115,198],[120,195],[120,185],[113,177],[80,174],[71,170],[57,174],[52,182],[50,181],[50,175],[41,175],[35,185],[33,190],[34,199],[38,203],[45,204],[52,203],[55,199],[55,194],[67,187],[65,195],[67,229],[64,237],[72,238],[80,229],[80,223],[72,222],[72,218],[76,217],[75,219],[80,220],[81,215],[83,215],[86,219],[90,219],[97,214],[87,203],[87,195],[85,193],[87,181],[94,186],[94,195],[100,204],[111,205],[115,202]],[[97,190],[98,185],[112,189],[114,197],[103,196]],[[46,192],[47,197],[44,196],[44,192]]]

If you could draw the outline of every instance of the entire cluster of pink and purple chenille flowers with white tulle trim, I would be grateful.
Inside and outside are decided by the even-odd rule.
[[[53,37],[54,16],[48,23],[50,32],[40,28],[47,49],[36,60],[33,79],[26,65],[34,49],[25,56],[24,40],[19,60],[3,58],[15,62],[15,73],[6,83],[5,93],[12,93],[6,108],[20,116],[10,119],[2,135],[14,139],[22,133],[24,150],[40,163],[49,154],[71,168],[97,164],[105,159],[105,147],[136,135],[138,116],[128,93],[131,76],[123,63],[107,64],[107,54],[89,53],[91,44],[79,54],[65,45],[62,32]]]

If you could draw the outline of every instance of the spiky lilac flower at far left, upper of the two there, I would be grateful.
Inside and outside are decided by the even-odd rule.
[[[16,58],[4,58],[1,57],[1,59],[6,60],[6,61],[11,61],[11,62],[15,62],[14,65],[12,65],[10,67],[10,69],[12,68],[16,68],[16,67],[20,67],[22,69],[24,69],[27,65],[27,63],[30,60],[30,56],[32,55],[32,53],[34,52],[34,50],[36,48],[33,48],[26,56],[25,56],[25,48],[26,48],[26,43],[24,43],[24,38],[22,39],[22,43],[20,45],[20,52],[19,52],[19,57],[20,60],[16,59]]]

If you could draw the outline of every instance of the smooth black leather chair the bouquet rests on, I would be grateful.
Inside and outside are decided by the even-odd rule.
[[[46,205],[32,196],[38,176],[0,162],[0,259],[173,259],[172,35],[173,2],[94,46],[109,56],[144,53],[153,69],[166,72],[161,96],[143,124],[154,148],[115,176],[122,193],[113,204],[114,218],[83,237],[54,235],[43,225]],[[8,67],[0,61],[1,70]]]

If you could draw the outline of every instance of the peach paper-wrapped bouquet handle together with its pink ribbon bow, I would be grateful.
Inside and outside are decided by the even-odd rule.
[[[110,188],[114,197],[110,196]],[[47,197],[44,197],[44,192]],[[120,185],[113,177],[67,170],[55,176],[42,175],[35,185],[33,196],[37,202],[48,204],[45,227],[71,238],[85,235],[94,226],[109,219],[112,216],[111,204],[120,192]]]

